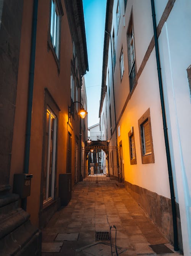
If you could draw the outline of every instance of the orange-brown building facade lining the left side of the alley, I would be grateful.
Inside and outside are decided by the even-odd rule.
[[[8,223],[0,239],[6,246],[11,228],[17,232],[26,227],[29,216],[39,228],[49,221],[60,205],[60,174],[71,173],[72,185],[80,179],[81,171],[75,167],[83,159],[75,148],[85,142],[78,111],[87,106],[85,90],[81,101],[81,88],[88,61],[81,0],[4,0],[0,21],[0,209],[2,221]],[[24,189],[31,186],[30,196],[19,198],[15,174],[32,177],[24,182]],[[19,222],[21,207],[26,211],[21,211]],[[31,232],[30,241],[37,237]],[[22,244],[16,249],[22,251]]]

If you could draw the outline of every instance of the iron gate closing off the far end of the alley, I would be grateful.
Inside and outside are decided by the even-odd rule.
[[[81,149],[84,182],[109,182],[118,180],[118,150],[116,147],[90,146]]]

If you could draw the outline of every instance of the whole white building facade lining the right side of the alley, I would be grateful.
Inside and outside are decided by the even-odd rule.
[[[107,1],[99,110],[109,145],[118,148],[117,178],[185,255],[191,253],[190,5]]]

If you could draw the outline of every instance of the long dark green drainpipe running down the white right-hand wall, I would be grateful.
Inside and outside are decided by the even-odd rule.
[[[168,178],[169,178],[169,184],[170,184],[170,196],[171,196],[171,204],[172,204],[174,250],[178,251],[178,231],[177,231],[177,221],[176,221],[175,192],[174,192],[174,185],[173,185],[172,165],[171,165],[171,159],[170,159],[170,147],[169,147],[168,132],[167,132],[167,119],[165,114],[165,103],[164,103],[164,95],[163,95],[162,74],[161,74],[161,67],[160,67],[159,43],[157,38],[157,25],[156,25],[154,0],[151,0],[151,7],[152,7],[152,21],[153,21],[153,29],[154,29],[154,40],[155,40],[155,52],[156,52],[156,60],[157,60],[157,71],[158,71],[158,78],[159,78],[160,101],[161,101],[161,109],[162,109],[162,121],[163,121],[163,130],[164,130],[167,165],[168,165]]]

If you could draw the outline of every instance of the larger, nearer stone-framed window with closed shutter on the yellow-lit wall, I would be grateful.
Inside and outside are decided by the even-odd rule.
[[[150,109],[139,119],[142,164],[154,163]]]

